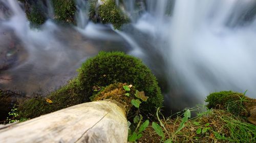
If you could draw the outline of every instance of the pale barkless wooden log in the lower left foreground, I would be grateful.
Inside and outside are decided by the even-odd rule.
[[[115,101],[83,103],[0,130],[0,142],[127,142],[125,111]]]

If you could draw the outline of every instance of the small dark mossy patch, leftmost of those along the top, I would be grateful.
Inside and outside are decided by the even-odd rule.
[[[46,21],[46,16],[36,6],[32,6],[32,8],[29,11],[26,12],[26,15],[27,15],[28,20],[33,25],[36,25],[36,26],[44,24],[45,21]]]

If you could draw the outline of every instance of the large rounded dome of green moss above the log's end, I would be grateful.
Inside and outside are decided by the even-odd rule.
[[[142,110],[155,113],[156,107],[162,107],[163,95],[156,77],[141,60],[123,52],[99,52],[88,59],[78,69],[78,80],[83,87],[86,101],[93,95],[93,87],[122,82],[132,84],[139,91],[144,91],[148,101],[142,103]]]

